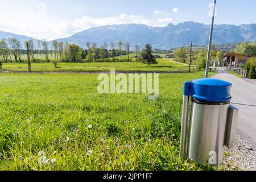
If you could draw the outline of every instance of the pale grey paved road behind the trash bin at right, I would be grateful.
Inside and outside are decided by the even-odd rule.
[[[233,84],[232,102],[244,104],[232,104],[239,109],[237,131],[256,147],[256,80],[243,80],[229,73],[218,73],[213,77]]]

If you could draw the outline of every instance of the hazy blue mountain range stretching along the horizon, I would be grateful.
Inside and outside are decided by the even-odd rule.
[[[166,27],[152,27],[144,24],[119,24],[89,28],[69,38],[58,39],[58,41],[79,44],[81,47],[85,47],[85,43],[88,41],[96,42],[98,46],[104,42],[110,44],[110,42],[117,43],[118,41],[129,42],[132,46],[135,44],[144,46],[150,43],[155,48],[169,49],[187,46],[191,41],[194,45],[207,46],[209,30],[209,25],[196,22],[184,22],[176,25],[170,23]],[[22,42],[30,39],[27,36],[0,31],[0,39],[8,37],[16,37]],[[232,24],[214,25],[213,42],[215,44],[243,41],[256,41],[256,24],[241,24],[240,26]]]

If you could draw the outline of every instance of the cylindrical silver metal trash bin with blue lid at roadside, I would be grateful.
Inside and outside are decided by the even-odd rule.
[[[222,163],[224,145],[232,147],[237,126],[238,109],[230,106],[231,87],[230,82],[213,78],[184,83],[180,136],[182,159],[189,158],[199,164]]]

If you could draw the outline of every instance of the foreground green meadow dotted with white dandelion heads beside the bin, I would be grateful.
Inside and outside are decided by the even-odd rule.
[[[179,158],[183,81],[159,98],[99,94],[97,75],[0,74],[0,170],[201,170]]]

